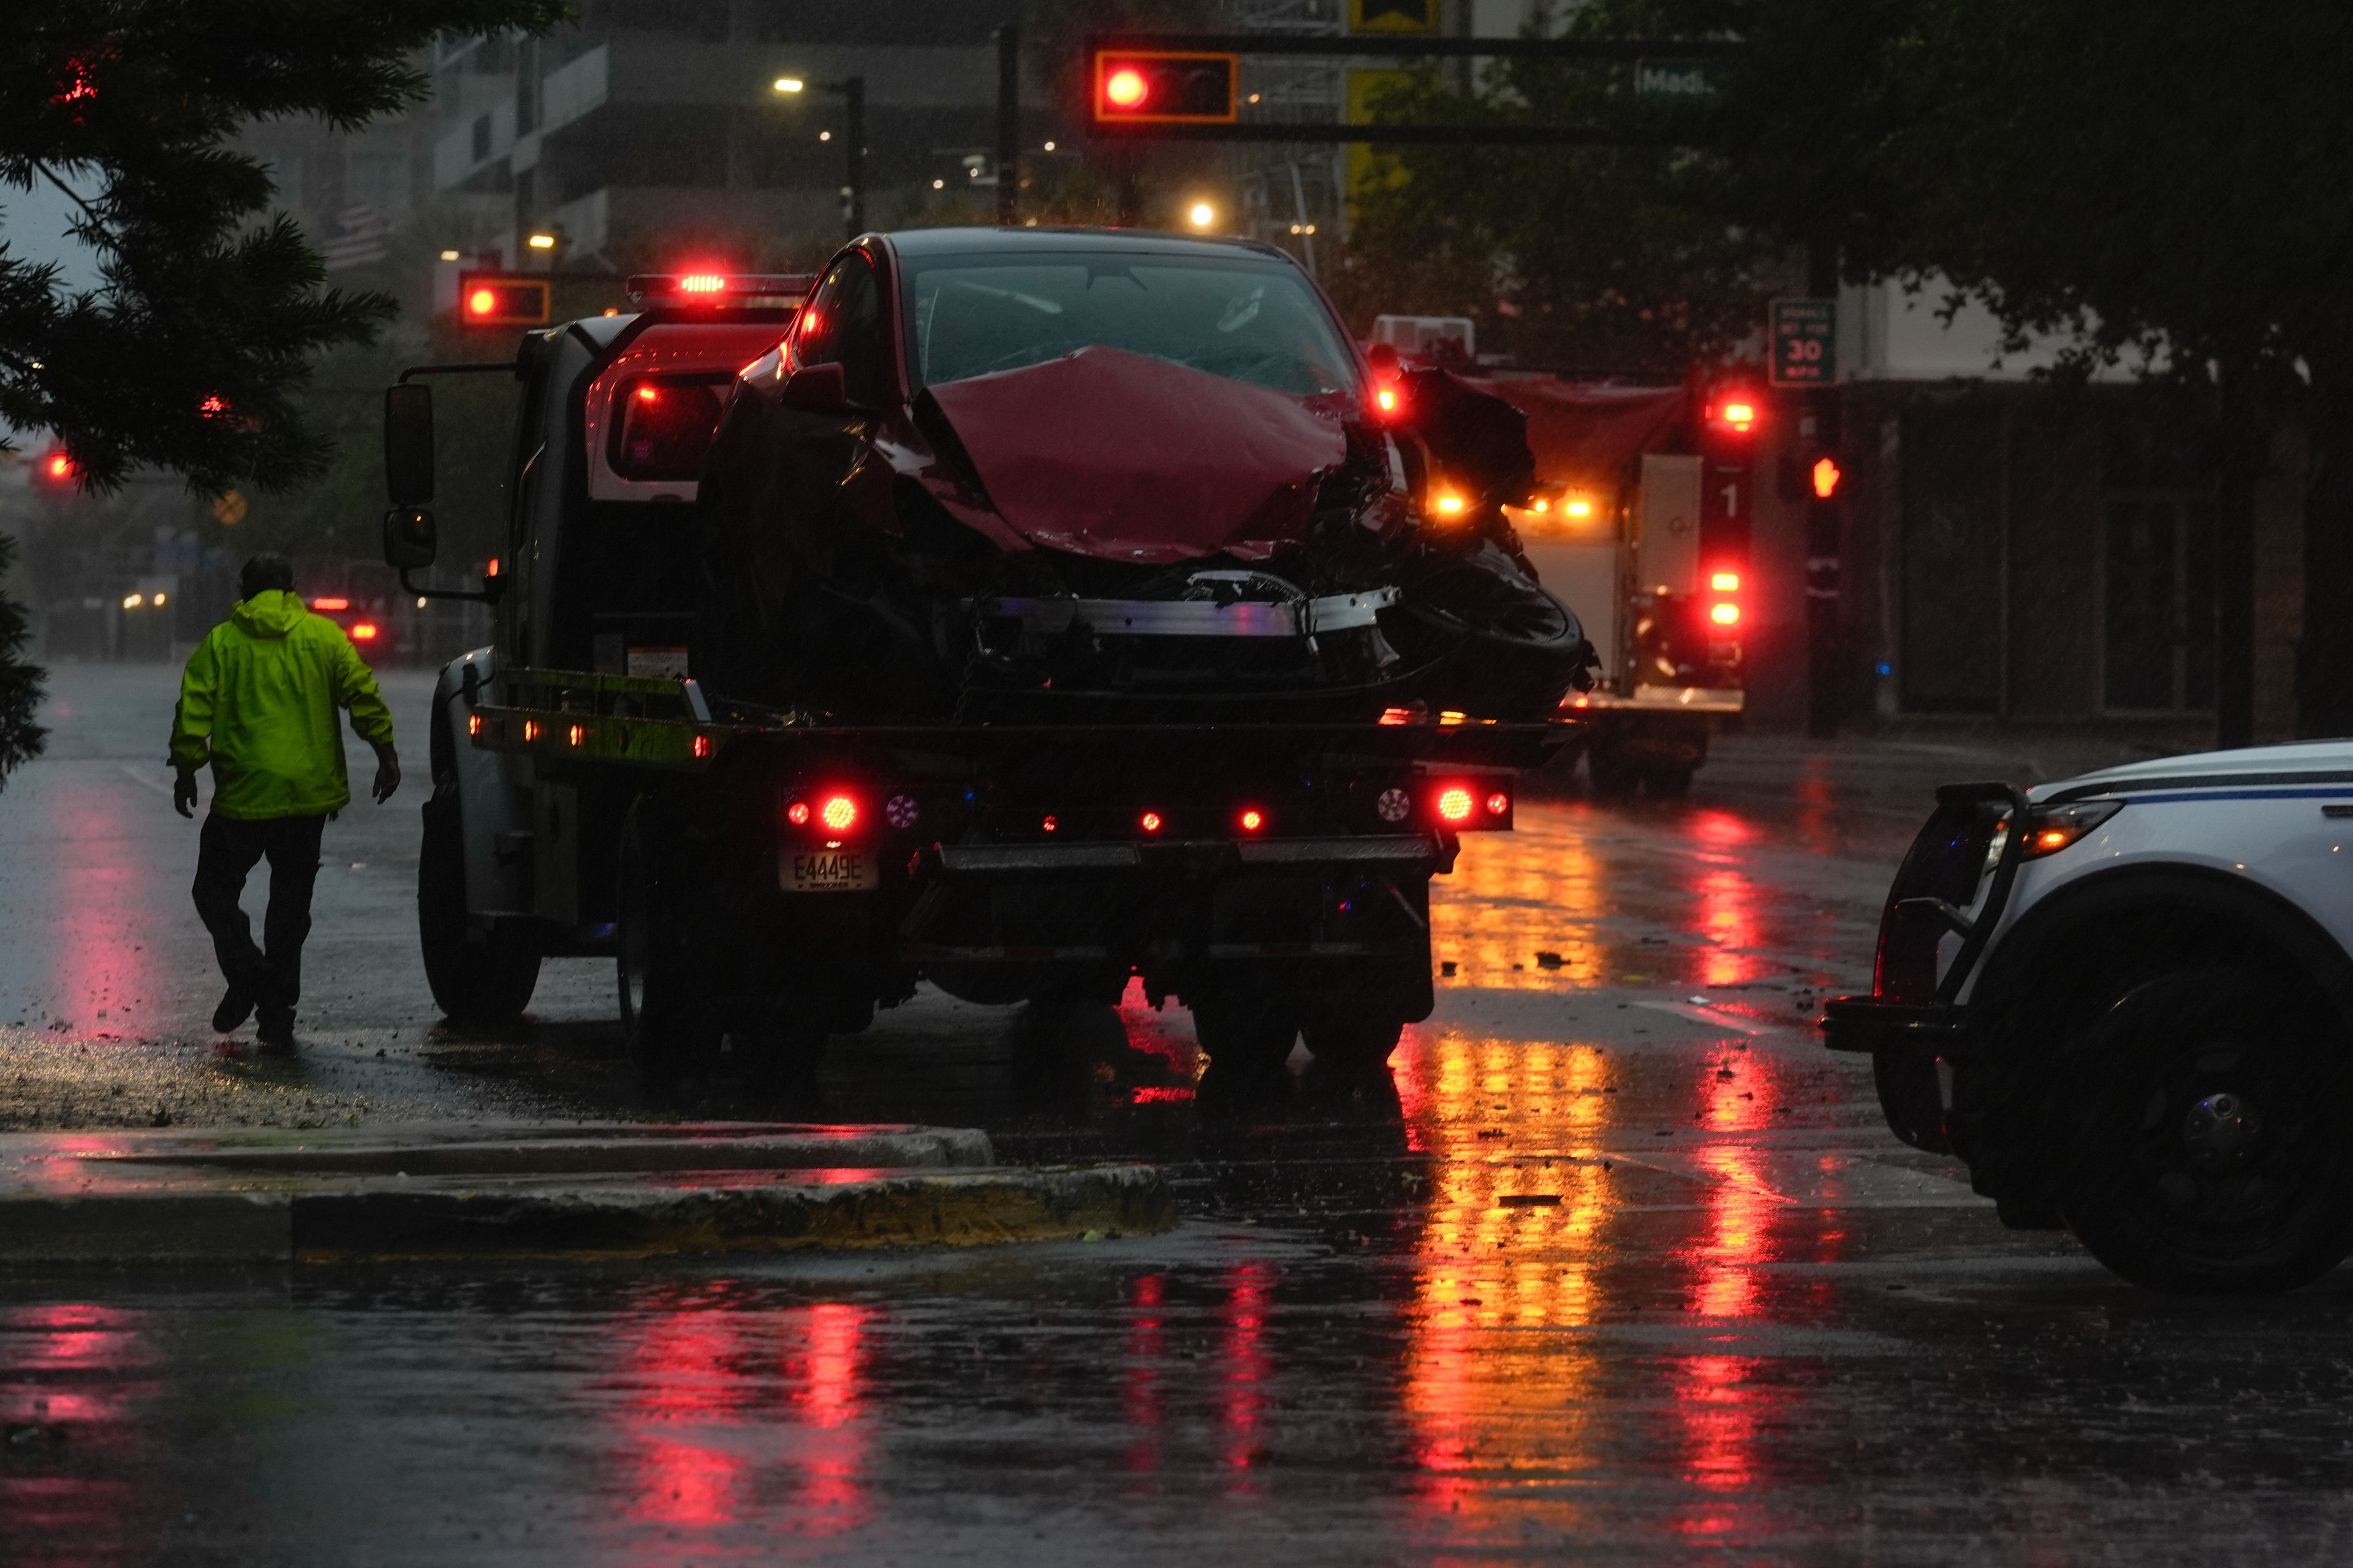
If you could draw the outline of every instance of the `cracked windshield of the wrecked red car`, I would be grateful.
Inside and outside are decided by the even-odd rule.
[[[1101,344],[1308,398],[1353,393],[1355,358],[1292,268],[1245,259],[1071,254],[911,259],[915,386],[1042,365]]]

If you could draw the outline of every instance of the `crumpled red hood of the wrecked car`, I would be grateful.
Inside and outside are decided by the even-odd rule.
[[[1348,454],[1299,398],[1122,348],[929,393],[1021,537],[1101,560],[1264,560],[1306,539]]]

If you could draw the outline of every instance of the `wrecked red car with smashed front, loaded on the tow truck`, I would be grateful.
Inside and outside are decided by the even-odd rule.
[[[696,664],[859,723],[1544,718],[1593,650],[1532,480],[1518,410],[1271,245],[868,235],[727,400]]]

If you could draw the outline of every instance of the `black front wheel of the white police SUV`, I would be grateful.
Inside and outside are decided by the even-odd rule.
[[[2353,1250],[2344,1019],[2292,977],[2153,979],[2068,1052],[2068,1229],[2137,1285],[2292,1290]]]

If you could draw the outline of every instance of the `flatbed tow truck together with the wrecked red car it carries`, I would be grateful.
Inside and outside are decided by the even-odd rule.
[[[1428,878],[1511,829],[1588,655],[1417,487],[1320,290],[1273,247],[929,231],[631,297],[386,393],[386,560],[496,619],[433,697],[440,1008],[609,956],[649,1085],[722,1050],[807,1085],[920,982],[1052,1015],[1141,979],[1205,1099],[1294,1041],[1377,1071],[1431,1010]],[[485,372],[506,570],[421,584],[431,384]]]

